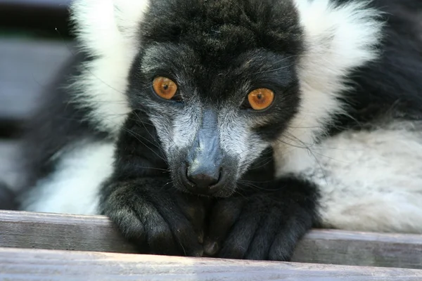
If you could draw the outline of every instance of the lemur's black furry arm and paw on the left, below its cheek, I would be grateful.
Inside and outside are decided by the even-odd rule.
[[[172,186],[155,130],[139,116],[128,117],[117,141],[101,213],[142,253],[201,256],[203,204]]]

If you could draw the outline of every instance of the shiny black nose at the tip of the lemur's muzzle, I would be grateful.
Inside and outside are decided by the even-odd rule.
[[[215,169],[204,169],[204,166],[193,167],[188,166],[186,176],[194,186],[192,186],[191,192],[207,195],[212,193],[213,186],[217,185],[220,179],[219,168]]]

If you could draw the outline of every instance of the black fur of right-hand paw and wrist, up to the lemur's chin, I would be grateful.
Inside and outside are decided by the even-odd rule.
[[[212,208],[205,253],[229,259],[288,261],[317,216],[316,187],[298,178],[254,183]]]

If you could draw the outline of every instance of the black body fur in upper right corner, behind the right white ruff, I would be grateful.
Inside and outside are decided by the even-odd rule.
[[[336,130],[360,129],[362,124],[385,117],[422,117],[422,3],[376,0],[371,5],[383,11],[382,20],[388,23],[383,30],[381,58],[350,74],[352,91],[346,96],[347,104],[352,105],[350,116],[338,118]]]

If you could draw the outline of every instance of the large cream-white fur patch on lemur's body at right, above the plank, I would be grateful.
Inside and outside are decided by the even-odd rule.
[[[408,125],[345,131],[290,162],[318,185],[324,226],[422,233],[422,132]]]

